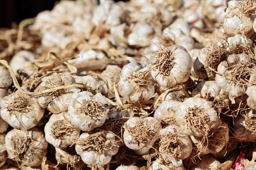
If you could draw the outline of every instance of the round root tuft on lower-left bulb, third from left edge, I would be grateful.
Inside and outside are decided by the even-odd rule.
[[[66,136],[71,136],[74,128],[67,120],[57,120],[51,125],[51,132],[55,138],[63,139]]]

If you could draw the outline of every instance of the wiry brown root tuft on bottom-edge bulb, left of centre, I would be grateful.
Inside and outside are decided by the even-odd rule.
[[[104,132],[98,132],[87,138],[79,139],[77,144],[80,145],[81,149],[84,151],[104,154],[114,146],[114,141],[107,140]]]

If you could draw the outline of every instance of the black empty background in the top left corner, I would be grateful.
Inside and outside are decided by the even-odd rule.
[[[44,10],[51,10],[59,0],[0,0],[0,28],[10,28],[25,18],[36,17]],[[127,1],[127,0],[115,0]]]

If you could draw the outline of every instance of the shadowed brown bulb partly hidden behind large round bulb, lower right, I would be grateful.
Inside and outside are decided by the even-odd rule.
[[[218,153],[229,142],[229,127],[228,124],[219,120],[215,129],[212,129],[207,136],[198,137],[190,136],[191,141],[197,146],[197,151],[200,154]]]

